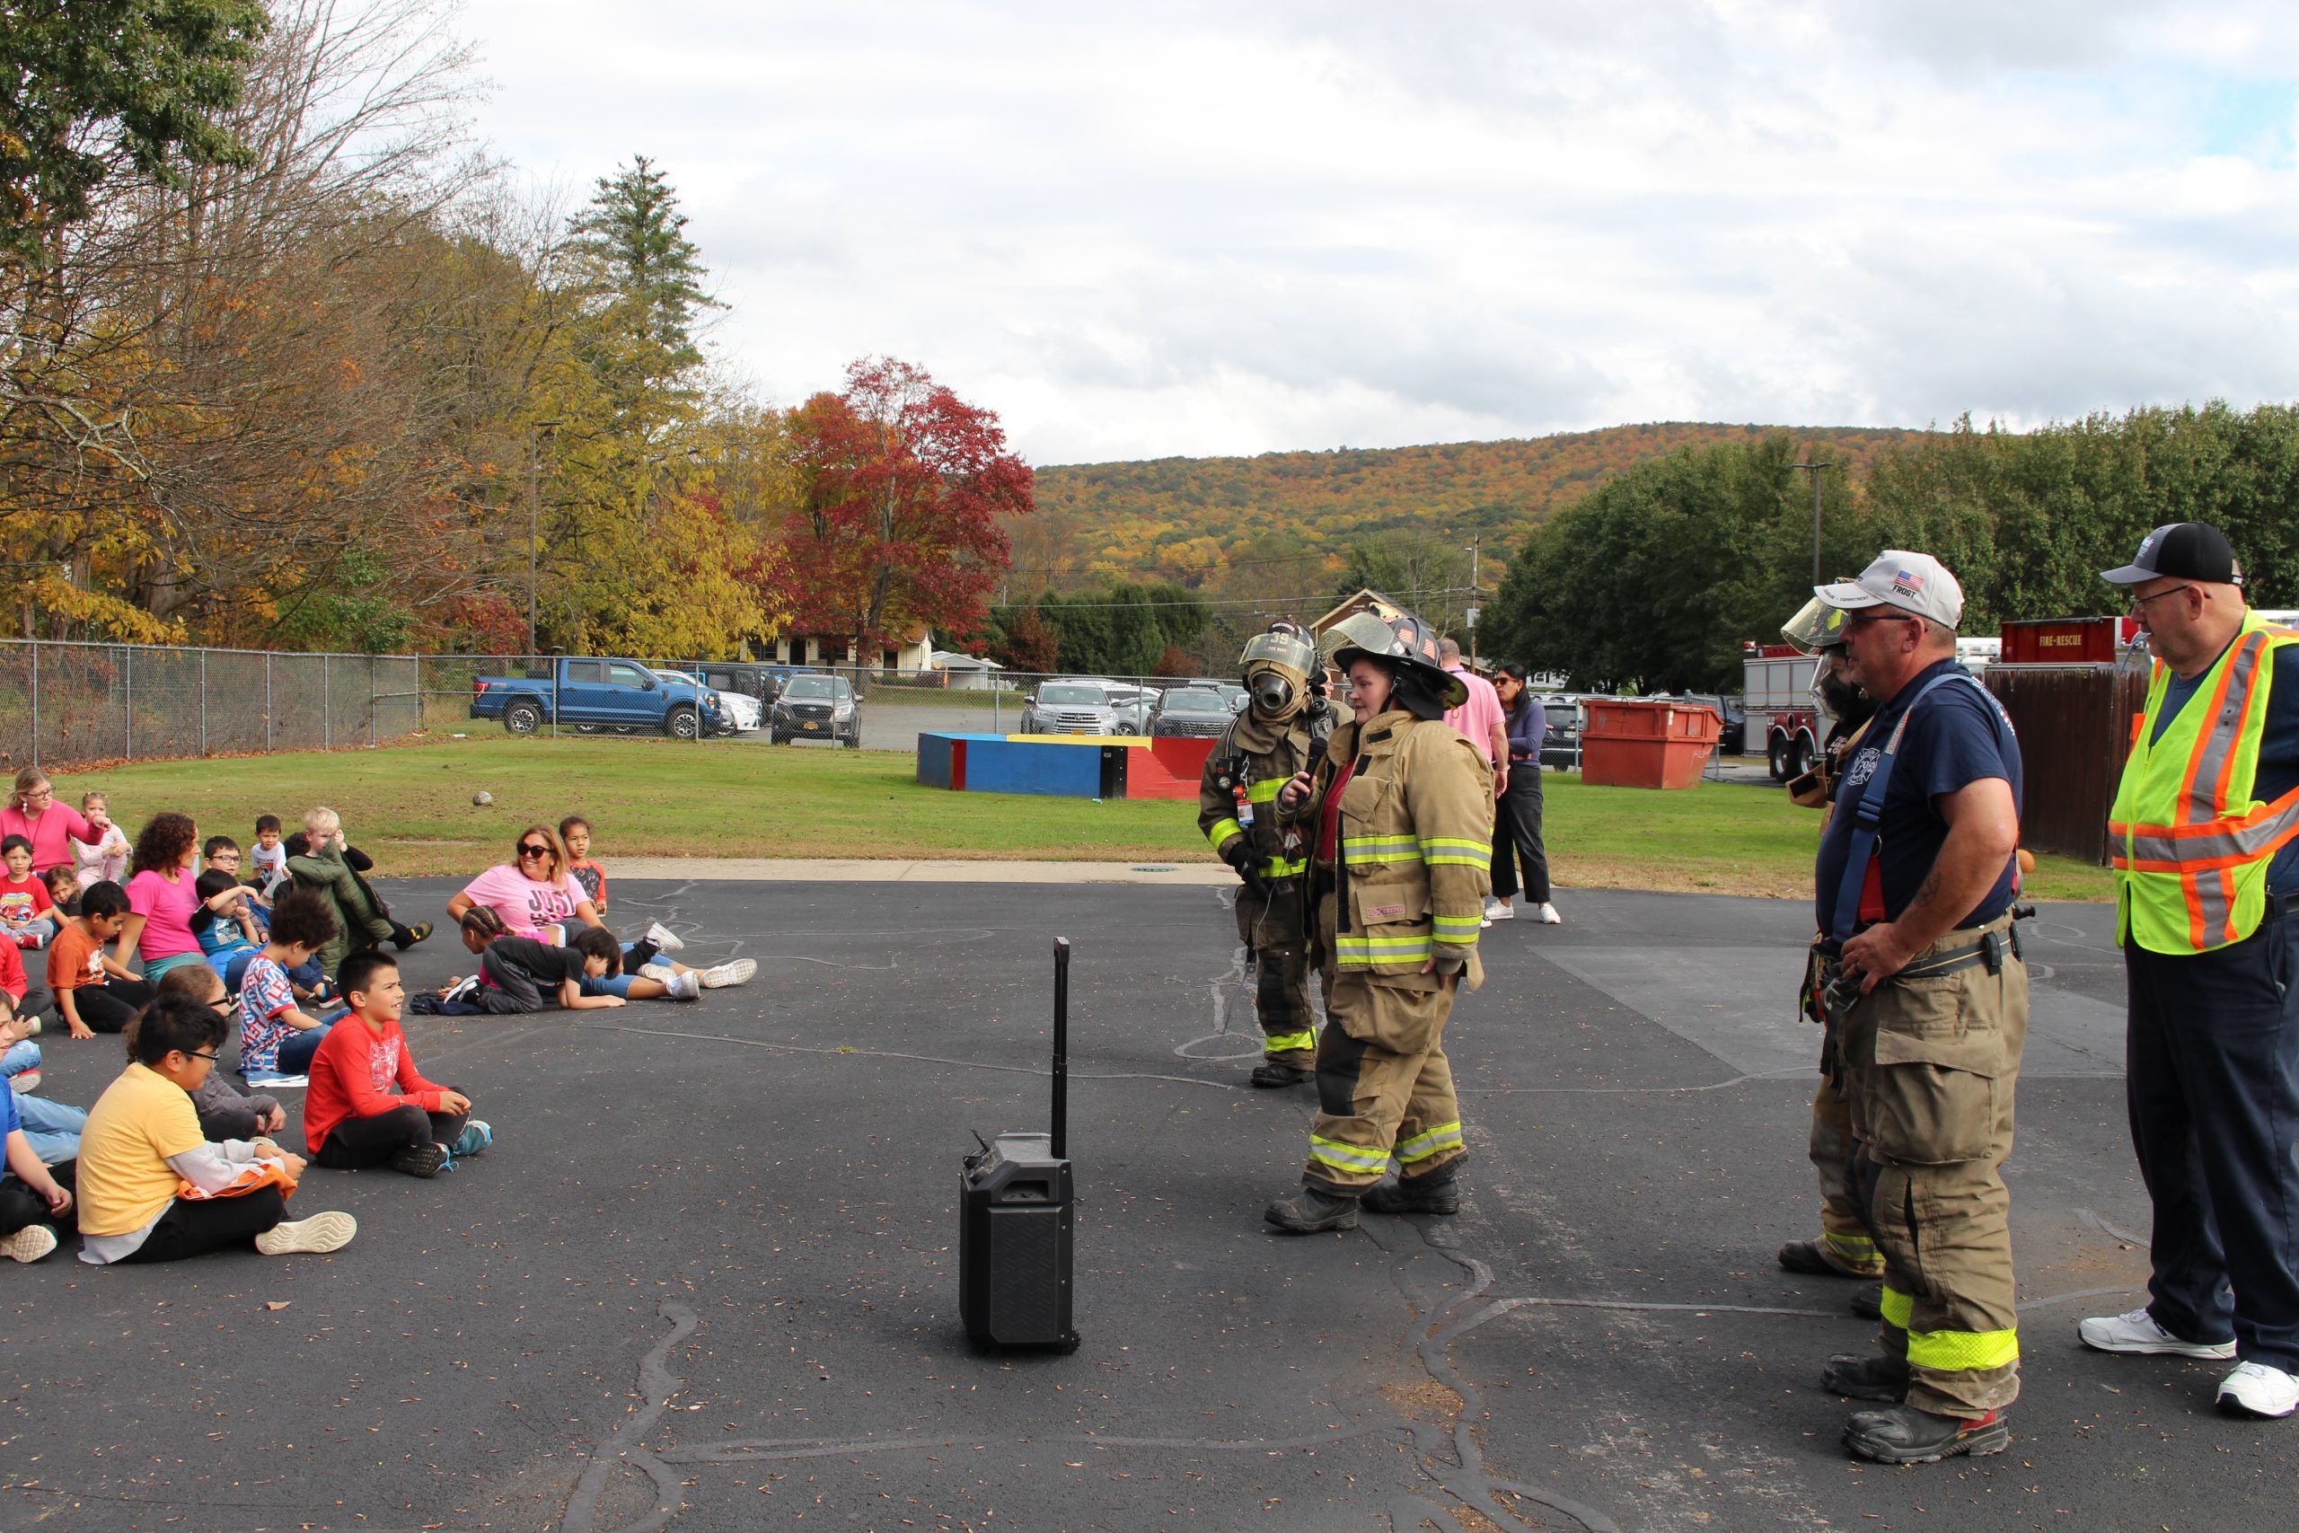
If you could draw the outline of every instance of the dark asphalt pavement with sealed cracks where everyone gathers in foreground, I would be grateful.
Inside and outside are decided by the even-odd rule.
[[[453,887],[384,892],[437,915]],[[2012,1450],[1876,1469],[1819,1388],[1871,1326],[1773,1259],[1819,1230],[1805,908],[1568,889],[1563,926],[1494,926],[1446,1039],[1462,1214],[1278,1239],[1260,1209],[1313,1101],[1244,1089],[1228,894],[616,878],[621,926],[759,979],[414,1018],[497,1147],[435,1181],[308,1172],[297,1214],[361,1220],[331,1257],[103,1271],[67,1241],[0,1271],[0,1526],[2290,1524],[2299,1423],[2225,1420],[2216,1368],[2074,1338],[2145,1282],[2108,910],[2030,924]],[[1055,935],[1083,1347],[982,1356],[959,1156],[1046,1119]],[[432,940],[407,970],[467,963]],[[62,1101],[120,1064],[41,1043]]]

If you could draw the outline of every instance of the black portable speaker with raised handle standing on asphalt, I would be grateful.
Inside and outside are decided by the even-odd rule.
[[[1055,938],[1053,1133],[1000,1133],[959,1172],[959,1317],[977,1347],[1078,1349],[1067,1119],[1069,938]]]

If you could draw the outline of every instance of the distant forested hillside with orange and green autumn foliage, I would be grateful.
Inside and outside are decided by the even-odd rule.
[[[1156,457],[1037,469],[1037,515],[1012,526],[1014,591],[1094,579],[1179,579],[1228,588],[1232,565],[1294,565],[1322,591],[1350,545],[1485,538],[1506,558],[1522,533],[1623,469],[1681,448],[1754,444],[1768,425],[1658,423],[1529,441],[1336,448],[1260,457]],[[1789,430],[1800,450],[1844,462],[1851,483],[1908,430]],[[1258,581],[1260,584],[1260,581]]]

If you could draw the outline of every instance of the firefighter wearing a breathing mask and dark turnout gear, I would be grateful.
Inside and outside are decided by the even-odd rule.
[[[1278,788],[1310,772],[1333,733],[1317,646],[1292,623],[1255,634],[1237,657],[1251,699],[1205,758],[1198,781],[1198,830],[1237,869],[1237,938],[1253,975],[1253,1009],[1262,1023],[1262,1062],[1248,1080],[1285,1087],[1308,1080],[1317,1062],[1317,1011],[1308,1000],[1308,899],[1304,832],[1278,825]]]

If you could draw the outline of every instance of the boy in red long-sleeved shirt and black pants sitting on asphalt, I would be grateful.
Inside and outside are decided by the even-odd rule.
[[[407,1002],[400,965],[363,949],[343,961],[336,984],[352,1014],[310,1057],[303,1099],[310,1158],[331,1170],[389,1165],[409,1177],[437,1177],[441,1165],[492,1145],[494,1128],[471,1117],[469,1096],[416,1071],[400,1032]]]

